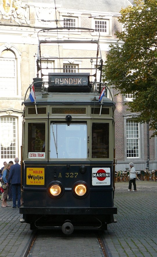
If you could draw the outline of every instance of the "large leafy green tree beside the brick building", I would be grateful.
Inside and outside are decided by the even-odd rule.
[[[128,109],[157,131],[157,0],[134,2],[120,12],[124,31],[116,32],[118,41],[110,45],[103,78],[121,94],[133,93]]]

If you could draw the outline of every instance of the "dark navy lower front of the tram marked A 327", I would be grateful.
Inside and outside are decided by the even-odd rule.
[[[86,167],[85,172],[80,171],[81,165]],[[35,185],[33,174],[28,169],[44,169],[43,185]],[[92,168],[111,170],[107,185],[102,185],[100,177],[95,176]],[[39,169],[38,168],[38,169]],[[94,175],[93,175],[94,174]],[[100,175],[100,174],[99,174]],[[103,174],[102,174],[103,175]],[[59,198],[51,197],[48,188],[51,183],[58,181],[63,187],[63,194]],[[76,197],[73,186],[82,181],[87,186],[88,193],[85,197]],[[98,181],[98,186],[97,186]],[[24,206],[20,207],[23,214],[23,222],[29,223],[30,228],[62,226],[66,220],[71,221],[73,226],[96,227],[107,229],[107,224],[113,223],[113,214],[117,214],[117,208],[113,207],[114,188],[112,162],[95,163],[71,163],[66,162],[39,165],[25,164],[23,198]],[[103,182],[104,183],[104,182]]]

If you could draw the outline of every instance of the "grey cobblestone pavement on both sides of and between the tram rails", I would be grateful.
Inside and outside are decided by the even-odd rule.
[[[128,185],[127,182],[115,183],[114,202],[118,208],[118,214],[114,217],[117,223],[108,225],[108,230],[103,233],[103,239],[111,257],[156,257],[157,182],[136,181],[137,192],[128,191]],[[12,205],[12,202],[8,203]],[[32,236],[32,230],[29,229],[29,225],[20,223],[20,218],[22,215],[19,214],[18,208],[0,207],[0,257],[21,257],[23,255],[26,244]],[[55,247],[58,249],[55,257],[86,257],[92,256],[92,252],[92,257],[102,257],[102,253],[98,249],[98,242],[94,241],[94,235],[91,232],[88,235],[82,231],[79,236],[82,240],[80,246],[77,244],[78,234],[76,232],[69,238],[65,237],[64,240],[61,240],[63,238],[62,232],[54,233],[51,237],[47,233],[43,245],[45,248],[46,242],[48,243],[51,238],[54,250]],[[70,248],[68,246],[69,241],[71,241]],[[73,244],[75,244],[75,248],[73,248]],[[89,251],[84,251],[85,245],[89,245]],[[43,247],[38,251],[37,256],[44,256],[42,249]],[[82,250],[80,251],[80,249]],[[53,256],[52,250],[46,253],[48,256]],[[90,255],[88,255],[89,253]]]

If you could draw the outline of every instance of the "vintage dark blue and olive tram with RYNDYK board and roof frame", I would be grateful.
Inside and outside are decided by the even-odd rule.
[[[30,229],[62,229],[64,234],[74,229],[106,230],[117,214],[115,103],[101,82],[100,34],[75,28],[85,39],[69,39],[72,29],[38,32],[37,77],[23,102],[21,146],[21,222]],[[80,46],[85,49],[82,56]],[[31,102],[27,96],[33,88]]]

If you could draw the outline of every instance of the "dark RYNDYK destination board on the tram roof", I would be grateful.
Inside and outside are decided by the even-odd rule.
[[[87,87],[88,73],[49,73],[49,87]]]

